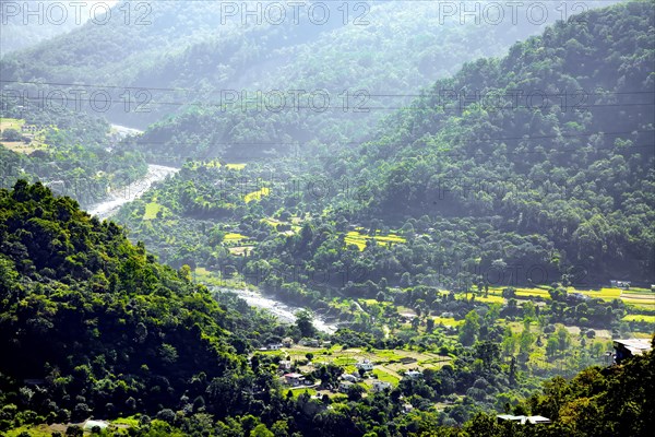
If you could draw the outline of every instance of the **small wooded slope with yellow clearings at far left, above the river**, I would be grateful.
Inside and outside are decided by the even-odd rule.
[[[0,188],[19,178],[48,184],[88,206],[109,187],[142,177],[141,152],[121,143],[104,118],[74,110],[43,110],[3,99],[0,108]]]

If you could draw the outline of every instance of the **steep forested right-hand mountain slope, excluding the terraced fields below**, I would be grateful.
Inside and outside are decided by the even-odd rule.
[[[369,214],[498,216],[501,233],[547,238],[553,265],[652,281],[653,12],[593,11],[467,64],[326,168],[365,176]]]

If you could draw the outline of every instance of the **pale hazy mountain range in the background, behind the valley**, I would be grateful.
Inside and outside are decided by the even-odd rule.
[[[522,8],[515,23],[500,25],[444,17],[434,2],[393,1],[320,2],[330,19],[318,23],[308,2],[297,21],[287,10],[279,24],[269,17],[245,25],[241,8],[258,4],[264,8],[242,3],[234,16],[206,1],[117,5],[105,25],[87,23],[7,56],[1,85],[31,96],[83,90],[83,110],[93,110],[88,95],[108,93],[105,115],[112,121],[142,128],[159,121],[141,141],[159,161],[227,150],[241,157],[288,153],[312,140],[361,139],[464,61],[500,55],[547,23],[606,2],[548,3],[538,22]],[[162,120],[172,114],[179,117]]]

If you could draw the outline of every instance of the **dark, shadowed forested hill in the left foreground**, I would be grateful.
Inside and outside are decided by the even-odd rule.
[[[188,269],[158,264],[123,228],[40,184],[1,189],[0,217],[2,428],[9,404],[66,423],[156,414],[204,394],[221,416],[222,400],[241,395],[230,390],[261,389],[258,378],[236,388],[248,374],[237,353],[270,319],[219,305]]]

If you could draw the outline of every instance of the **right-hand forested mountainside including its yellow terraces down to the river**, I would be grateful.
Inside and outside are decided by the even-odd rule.
[[[329,272],[342,290],[348,281],[468,290],[564,276],[581,287],[650,284],[652,12],[652,2],[593,11],[504,58],[467,64],[391,118],[379,140],[340,154],[315,146],[245,168],[189,163],[119,217],[166,262],[262,269],[262,260],[275,271],[291,262]],[[534,91],[574,101],[511,106],[508,95]],[[501,98],[460,108],[464,93]],[[148,203],[159,214],[148,216]],[[366,248],[364,239],[350,246],[357,226]],[[222,240],[230,232],[249,258]],[[314,293],[325,285],[290,282]]]

